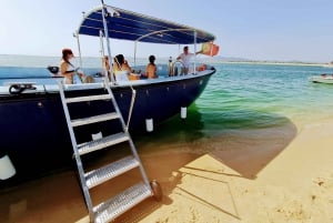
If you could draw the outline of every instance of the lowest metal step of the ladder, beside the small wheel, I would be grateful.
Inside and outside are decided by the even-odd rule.
[[[135,184],[111,200],[94,206],[95,222],[110,222],[151,195],[150,185],[142,182]]]

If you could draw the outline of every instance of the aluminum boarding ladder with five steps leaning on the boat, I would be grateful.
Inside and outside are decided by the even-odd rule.
[[[104,223],[110,222],[114,220],[120,214],[124,213],[129,209],[133,207],[141,201],[154,196],[155,200],[162,199],[162,191],[161,186],[157,181],[149,182],[148,176],[145,174],[145,171],[142,166],[142,163],[140,161],[140,158],[138,155],[137,149],[134,146],[134,143],[128,132],[128,128],[125,126],[124,120],[122,118],[122,114],[120,113],[120,109],[118,107],[118,103],[113,97],[113,93],[111,91],[111,88],[107,81],[104,81],[103,84],[101,84],[101,90],[104,89],[107,93],[102,94],[93,94],[93,95],[84,95],[84,97],[74,97],[74,98],[67,98],[64,85],[62,82],[58,82],[59,84],[59,91],[60,97],[62,101],[62,107],[72,142],[73,148],[73,156],[77,161],[79,178],[84,195],[84,201],[87,204],[87,207],[89,210],[89,216],[91,222],[97,223]],[[70,87],[70,85],[67,85]],[[70,118],[70,111],[69,111],[69,103],[82,103],[82,102],[90,102],[90,101],[97,101],[97,100],[111,100],[111,104],[114,108],[114,112],[107,113],[107,114],[99,114],[94,116],[88,116],[83,119],[77,119],[72,120]],[[97,122],[104,122],[110,120],[119,119],[123,132],[108,135],[105,138],[101,138],[98,140],[92,140],[90,142],[77,143],[75,134],[74,134],[74,128],[80,125],[87,125],[92,124]],[[125,156],[121,160],[118,160],[115,162],[112,162],[108,165],[104,165],[100,169],[92,170],[89,172],[84,171],[81,155],[92,153],[98,150],[102,150],[105,148],[110,148],[112,145],[122,143],[122,142],[129,142],[129,145],[131,148],[132,155]],[[132,185],[131,187],[128,187],[122,193],[98,204],[93,205],[90,190],[101,183],[104,183],[120,174],[123,174],[134,168],[140,169],[140,173],[142,176],[142,182],[139,182],[135,185]]]

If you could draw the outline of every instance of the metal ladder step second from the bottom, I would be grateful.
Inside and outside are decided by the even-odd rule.
[[[89,189],[92,189],[93,186],[97,186],[105,181],[109,181],[139,165],[140,165],[139,161],[135,160],[133,156],[123,158],[101,169],[93,170],[85,173],[84,176],[85,176],[87,185]]]

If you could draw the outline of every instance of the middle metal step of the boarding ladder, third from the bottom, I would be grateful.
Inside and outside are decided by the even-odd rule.
[[[78,151],[80,155],[83,155],[85,153],[90,153],[97,150],[101,150],[124,141],[128,141],[130,138],[127,133],[120,132],[117,134],[112,134],[102,139],[93,140],[90,142],[85,142],[78,145]]]

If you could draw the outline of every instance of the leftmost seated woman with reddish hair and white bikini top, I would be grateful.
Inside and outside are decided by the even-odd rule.
[[[71,49],[62,50],[62,60],[60,62],[60,73],[64,77],[64,84],[73,84],[74,75],[78,74],[80,80],[84,77],[83,72],[75,68],[70,60],[74,58]]]

